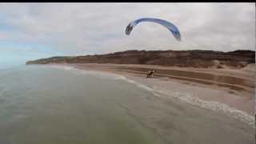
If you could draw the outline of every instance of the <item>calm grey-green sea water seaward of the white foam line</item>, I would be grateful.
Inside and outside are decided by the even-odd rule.
[[[234,118],[118,75],[63,66],[0,71],[0,143],[254,143]]]

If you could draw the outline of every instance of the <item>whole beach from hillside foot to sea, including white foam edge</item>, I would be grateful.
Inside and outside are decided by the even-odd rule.
[[[196,106],[225,112],[251,124],[254,122],[254,65],[242,70],[95,63],[61,66],[119,74],[130,82],[150,88],[156,94],[165,94],[166,98],[171,95]],[[156,70],[156,73],[153,78],[146,78],[150,69]]]

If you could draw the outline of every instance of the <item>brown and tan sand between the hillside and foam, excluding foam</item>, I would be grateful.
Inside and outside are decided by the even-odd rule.
[[[118,64],[64,64],[84,70],[100,70],[122,74],[140,82],[194,94],[206,101],[222,102],[235,109],[254,115],[254,74],[252,70],[214,70],[178,68],[167,66],[142,66]],[[151,68],[154,78],[145,78]]]

